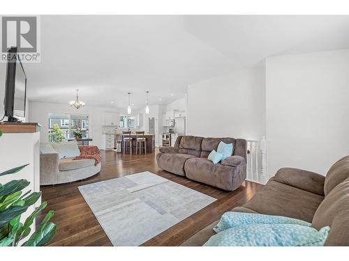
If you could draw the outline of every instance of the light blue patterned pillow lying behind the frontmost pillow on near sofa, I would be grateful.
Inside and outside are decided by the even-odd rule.
[[[287,216],[225,212],[219,223],[214,227],[214,231],[218,233],[228,228],[249,224],[296,224],[301,226],[311,226],[311,223],[299,219],[292,219]]]

